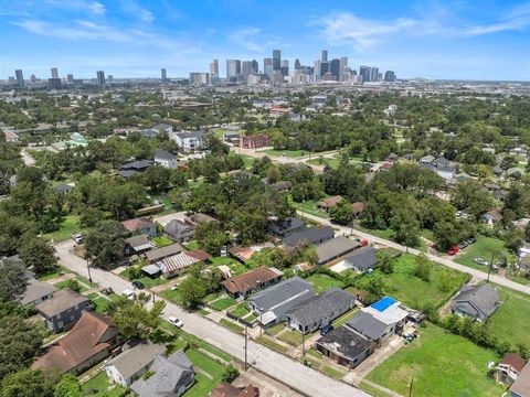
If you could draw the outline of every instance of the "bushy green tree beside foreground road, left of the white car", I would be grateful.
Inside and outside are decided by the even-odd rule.
[[[159,315],[166,302],[158,300],[150,310],[147,310],[145,304],[149,298],[148,294],[141,294],[134,300],[119,297],[109,304],[108,311],[113,322],[125,339],[147,340],[158,328]]]

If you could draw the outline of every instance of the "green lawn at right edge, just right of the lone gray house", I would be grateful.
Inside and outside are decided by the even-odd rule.
[[[530,297],[496,286],[500,294],[500,307],[489,318],[490,332],[500,341],[512,346],[523,343],[530,347]]]

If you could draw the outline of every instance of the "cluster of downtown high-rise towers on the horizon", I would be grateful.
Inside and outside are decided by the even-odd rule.
[[[263,60],[262,67],[256,60],[226,60],[225,75],[220,74],[219,60],[210,64],[210,73],[190,73],[190,83],[197,85],[215,85],[221,82],[233,84],[310,84],[310,83],[350,83],[395,82],[393,71],[384,74],[378,67],[361,65],[359,71],[348,65],[348,57],[328,58],[328,51],[322,50],[320,58],[312,65],[303,65],[297,58],[293,67],[288,60],[282,58],[280,50],[273,50],[273,56]],[[162,73],[163,79],[163,73]]]

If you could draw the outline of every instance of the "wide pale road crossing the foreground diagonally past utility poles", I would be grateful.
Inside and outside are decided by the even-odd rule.
[[[61,265],[83,276],[87,276],[84,259],[72,253],[72,240],[55,245]],[[102,287],[112,287],[116,293],[130,289],[130,282],[109,271],[91,269],[92,279]],[[158,298],[161,299],[161,298]],[[189,313],[179,305],[167,301],[163,316],[174,315],[183,321],[184,331],[197,335],[232,356],[244,361],[244,336],[226,330],[198,314]],[[368,397],[369,394],[336,380],[322,373],[308,368],[301,363],[276,353],[252,340],[248,341],[248,363],[266,375],[280,380],[295,390],[315,397]]]

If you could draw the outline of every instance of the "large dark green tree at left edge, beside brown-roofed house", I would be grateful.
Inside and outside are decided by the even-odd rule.
[[[17,314],[0,316],[0,379],[30,365],[40,352],[45,331]]]

